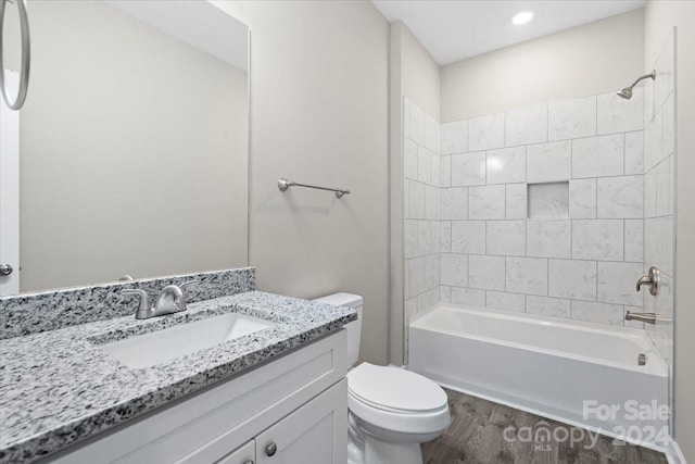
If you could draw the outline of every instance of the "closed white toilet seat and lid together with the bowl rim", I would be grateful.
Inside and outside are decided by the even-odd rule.
[[[440,434],[450,424],[446,393],[419,374],[363,363],[348,373],[348,407],[359,419],[402,434]]]

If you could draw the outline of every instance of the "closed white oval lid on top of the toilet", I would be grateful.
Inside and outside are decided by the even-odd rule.
[[[348,373],[351,394],[375,407],[427,412],[446,405],[446,393],[432,380],[397,367],[362,363]]]

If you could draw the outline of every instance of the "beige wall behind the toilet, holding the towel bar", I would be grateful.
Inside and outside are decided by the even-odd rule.
[[[386,363],[389,25],[369,2],[220,2],[251,27],[250,263],[261,290],[365,298]],[[280,176],[352,193],[291,189]]]

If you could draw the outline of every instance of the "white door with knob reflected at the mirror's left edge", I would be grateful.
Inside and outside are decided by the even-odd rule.
[[[4,70],[0,68],[0,72]],[[17,73],[4,72],[14,92]],[[0,297],[20,292],[20,112],[0,100],[0,265],[12,274],[0,276]]]

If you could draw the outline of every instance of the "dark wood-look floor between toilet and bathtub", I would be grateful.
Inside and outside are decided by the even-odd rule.
[[[505,440],[504,430],[548,430],[570,426],[534,414],[481,400],[453,390],[445,390],[452,413],[452,425],[437,440],[422,444],[425,464],[667,464],[662,453],[631,444],[614,444],[611,438],[598,436],[590,447],[589,431],[584,441],[564,440],[565,434],[554,434],[560,440]],[[547,425],[541,424],[544,422]],[[576,430],[576,437],[582,435]],[[551,434],[552,436],[553,434]],[[507,431],[507,437],[517,437]]]

